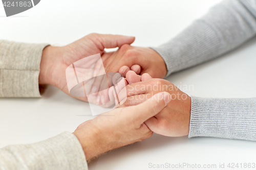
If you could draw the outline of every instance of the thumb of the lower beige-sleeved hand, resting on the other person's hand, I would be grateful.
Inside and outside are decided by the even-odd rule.
[[[160,92],[155,94],[152,98],[147,101],[130,107],[129,110],[130,118],[132,117],[133,122],[137,122],[139,125],[143,124],[147,119],[158,114],[171,100],[171,96],[168,92]],[[129,118],[129,119],[130,119]]]

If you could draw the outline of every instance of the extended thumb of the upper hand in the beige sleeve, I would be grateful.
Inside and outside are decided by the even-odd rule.
[[[103,51],[104,48],[115,48],[123,44],[131,44],[134,42],[135,37],[93,33],[90,34],[90,39]]]

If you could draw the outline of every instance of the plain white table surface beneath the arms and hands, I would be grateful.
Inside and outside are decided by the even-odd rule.
[[[96,32],[133,35],[136,46],[157,46],[177,35],[218,2],[44,0],[12,17],[5,17],[0,5],[0,38],[65,45]],[[218,59],[177,72],[167,80],[180,87],[193,86],[184,91],[189,95],[255,97],[255,54],[256,38]],[[0,148],[44,140],[64,131],[73,132],[79,124],[93,118],[88,103],[70,98],[52,86],[41,99],[0,99],[0,108]],[[229,162],[256,163],[255,151],[253,141],[154,134],[142,142],[101,156],[89,169],[154,169],[149,163],[217,164],[215,169],[219,169],[220,163],[225,166]]]

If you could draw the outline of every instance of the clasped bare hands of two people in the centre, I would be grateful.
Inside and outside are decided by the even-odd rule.
[[[190,97],[162,79],[167,72],[162,57],[151,48],[131,46],[134,40],[120,35],[90,34],[67,46],[47,46],[42,52],[39,84],[54,85],[67,94],[66,68],[87,56],[100,53],[105,72],[125,76],[126,88],[118,91],[122,105],[103,113],[116,116],[97,116],[74,132],[87,160],[142,141],[153,132],[165,136],[188,135]],[[114,47],[119,49],[104,52],[104,48]],[[125,97],[127,100],[122,103]],[[88,102],[86,97],[76,98]],[[96,97],[97,104],[106,100],[100,95]]]

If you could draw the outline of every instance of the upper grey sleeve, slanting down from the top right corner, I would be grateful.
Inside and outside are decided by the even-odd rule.
[[[169,42],[152,47],[167,75],[216,58],[256,34],[256,0],[225,0]]]

